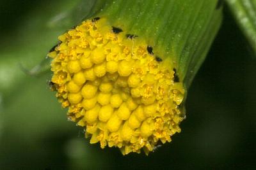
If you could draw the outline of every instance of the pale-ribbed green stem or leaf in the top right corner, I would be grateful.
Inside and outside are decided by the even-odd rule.
[[[226,0],[256,55],[256,1]]]

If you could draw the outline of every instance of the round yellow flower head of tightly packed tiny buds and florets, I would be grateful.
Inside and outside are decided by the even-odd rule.
[[[184,89],[170,59],[154,55],[140,36],[86,20],[59,36],[52,83],[68,118],[84,127],[90,143],[125,155],[148,153],[180,132]]]

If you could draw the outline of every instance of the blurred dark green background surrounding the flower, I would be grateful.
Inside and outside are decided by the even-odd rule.
[[[67,121],[47,86],[50,72],[20,69],[38,64],[76,24],[67,16],[77,1],[0,1],[0,169],[256,168],[256,60],[227,6],[189,89],[182,132],[148,156],[123,156],[88,144]]]

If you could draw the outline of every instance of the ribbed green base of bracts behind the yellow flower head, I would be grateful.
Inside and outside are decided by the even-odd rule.
[[[113,26],[145,38],[154,53],[173,60],[188,89],[220,28],[222,8],[218,1],[105,2],[95,17],[106,17]]]

